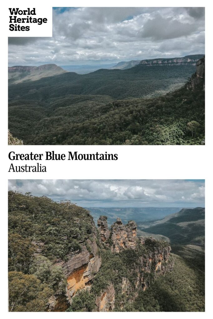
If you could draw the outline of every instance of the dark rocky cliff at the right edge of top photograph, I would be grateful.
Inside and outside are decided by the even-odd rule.
[[[205,89],[205,56],[196,63],[196,72],[186,84],[188,90],[195,90],[197,87]]]

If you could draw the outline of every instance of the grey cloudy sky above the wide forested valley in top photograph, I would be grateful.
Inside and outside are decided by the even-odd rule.
[[[204,8],[54,8],[52,38],[9,39],[9,66],[204,54]]]

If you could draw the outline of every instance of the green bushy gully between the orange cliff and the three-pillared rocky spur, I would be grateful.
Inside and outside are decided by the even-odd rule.
[[[111,252],[110,249],[101,249],[102,265],[98,273],[95,275],[93,285],[90,292],[80,292],[73,300],[68,311],[91,311],[91,304],[95,305],[95,299],[110,283],[115,289],[115,311],[120,311],[121,306],[128,304],[133,298],[136,291],[136,282],[138,280],[138,267],[140,258],[146,256],[148,252],[154,251],[157,247],[162,248],[167,245],[164,241],[147,241],[146,245],[138,243],[137,249],[127,249],[121,251],[119,254]],[[142,272],[142,270],[141,270]],[[145,276],[145,274],[144,274]],[[122,293],[122,281],[127,278],[130,283],[130,292],[128,294]],[[153,281],[153,273],[146,274],[147,285]],[[90,303],[86,300],[90,297]]]

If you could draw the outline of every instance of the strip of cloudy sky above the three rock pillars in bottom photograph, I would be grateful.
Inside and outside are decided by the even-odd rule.
[[[9,180],[9,190],[83,207],[204,207],[204,180]]]

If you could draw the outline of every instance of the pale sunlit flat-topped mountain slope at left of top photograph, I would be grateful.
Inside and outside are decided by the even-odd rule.
[[[9,84],[26,83],[27,81],[36,81],[65,72],[65,70],[56,64],[44,64],[40,66],[16,65],[8,67],[8,82]]]

